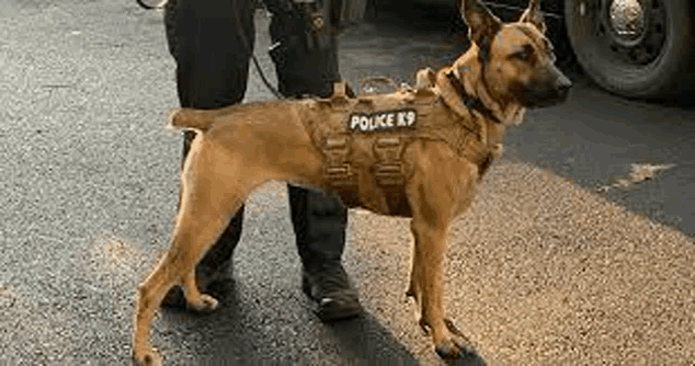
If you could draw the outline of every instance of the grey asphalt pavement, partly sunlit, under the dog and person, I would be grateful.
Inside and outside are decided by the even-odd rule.
[[[341,36],[341,69],[412,82],[464,44],[385,16]],[[257,55],[267,19],[257,16]],[[137,284],[167,249],[181,136],[161,15],[133,0],[2,0],[0,365],[127,365]],[[446,308],[488,365],[695,364],[695,108],[626,101],[570,72],[532,111],[454,225]],[[271,99],[255,70],[248,101]],[[631,163],[675,164],[597,192]],[[286,191],[260,188],[221,307],[163,311],[168,365],[438,365],[405,296],[408,221],[350,214],[364,318],[322,324],[300,290]]]

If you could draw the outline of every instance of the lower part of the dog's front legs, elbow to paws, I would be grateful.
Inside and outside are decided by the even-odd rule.
[[[420,302],[420,325],[431,333],[435,351],[441,357],[459,358],[472,354],[475,351],[470,341],[444,317],[442,272],[447,227],[413,217],[411,230],[415,247],[409,295]]]

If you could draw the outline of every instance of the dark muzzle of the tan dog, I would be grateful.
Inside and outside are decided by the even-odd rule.
[[[567,101],[572,82],[565,73],[552,66],[535,82],[526,85],[522,93],[522,104],[529,108],[552,106]]]

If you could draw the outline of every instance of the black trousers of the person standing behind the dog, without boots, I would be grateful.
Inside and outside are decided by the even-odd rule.
[[[169,49],[176,60],[181,106],[218,108],[239,103],[244,95],[254,42],[253,1],[170,0],[166,11]],[[284,41],[286,53],[276,61],[278,87],[286,96],[328,96],[338,73],[334,35],[328,48],[307,49],[292,34],[293,20],[274,14],[273,42]],[[195,133],[184,137],[183,157]],[[288,186],[292,222],[305,268],[320,268],[340,260],[346,209],[338,198],[317,191]],[[241,236],[243,207],[198,264],[198,274],[224,270]]]

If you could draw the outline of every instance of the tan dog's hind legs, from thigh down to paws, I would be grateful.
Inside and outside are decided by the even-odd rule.
[[[184,165],[181,208],[171,247],[138,287],[133,344],[133,358],[138,365],[161,362],[149,343],[149,333],[156,311],[171,287],[183,285],[186,301],[195,309],[217,306],[217,300],[197,288],[195,266],[241,206],[246,191],[238,182],[239,162],[201,145],[200,140],[194,141]],[[220,170],[227,174],[216,174]]]

